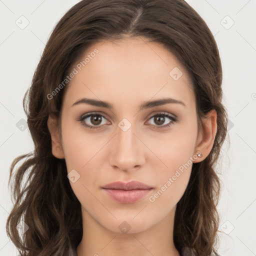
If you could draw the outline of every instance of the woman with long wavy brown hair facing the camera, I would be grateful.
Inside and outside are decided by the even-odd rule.
[[[221,81],[183,0],[69,9],[24,97],[35,147],[11,165],[6,224],[20,255],[216,255]]]

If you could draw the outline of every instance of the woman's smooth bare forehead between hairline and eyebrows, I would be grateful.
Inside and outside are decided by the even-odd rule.
[[[194,104],[185,67],[163,45],[144,37],[95,42],[73,68],[77,73],[65,93],[70,103],[91,96],[130,105],[136,100],[170,96]]]

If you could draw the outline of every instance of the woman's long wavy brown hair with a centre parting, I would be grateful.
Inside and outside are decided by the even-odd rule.
[[[65,160],[51,153],[47,128],[49,114],[59,117],[68,83],[52,98],[47,95],[66,78],[89,44],[124,36],[161,43],[186,67],[199,127],[209,110],[217,112],[212,150],[192,165],[188,186],[177,203],[173,231],[180,253],[184,247],[201,256],[216,252],[220,180],[214,167],[226,136],[227,117],[221,103],[221,62],[212,33],[184,0],[82,0],[53,29],[23,99],[34,151],[11,164],[14,205],[6,223],[7,234],[22,256],[67,255],[81,240],[80,203],[66,177]],[[28,226],[22,235],[17,232],[18,223]]]

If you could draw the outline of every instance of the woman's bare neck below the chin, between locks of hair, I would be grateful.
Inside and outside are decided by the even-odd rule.
[[[179,256],[173,243],[175,207],[146,230],[120,233],[106,229],[82,207],[83,235],[77,256]]]

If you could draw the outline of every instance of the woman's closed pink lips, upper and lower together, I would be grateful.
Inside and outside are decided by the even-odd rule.
[[[153,187],[139,181],[115,181],[104,185],[103,190],[111,198],[122,203],[132,203],[143,198]]]

